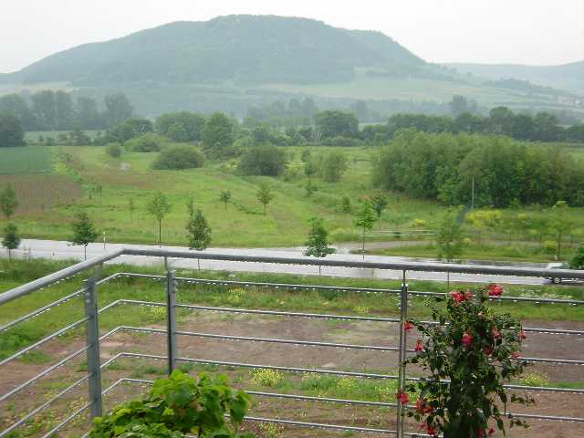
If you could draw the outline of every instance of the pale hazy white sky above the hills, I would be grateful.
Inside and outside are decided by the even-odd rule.
[[[306,16],[373,29],[432,62],[584,59],[584,0],[0,0],[0,71],[176,20]]]

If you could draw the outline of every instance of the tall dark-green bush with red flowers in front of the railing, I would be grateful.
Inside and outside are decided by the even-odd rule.
[[[406,321],[404,330],[417,328],[415,355],[405,364],[419,364],[428,375],[398,391],[396,399],[409,402],[417,393],[415,410],[408,415],[421,422],[425,433],[444,438],[483,438],[505,433],[503,419],[507,403],[530,404],[528,397],[507,396],[504,381],[519,377],[527,366],[520,360],[521,341],[526,333],[520,321],[497,315],[488,306],[488,297],[499,297],[503,287],[489,285],[471,291],[454,291],[445,306],[433,306],[437,324]],[[510,417],[511,426],[527,424]]]

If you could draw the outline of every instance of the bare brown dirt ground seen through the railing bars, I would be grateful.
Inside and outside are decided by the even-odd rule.
[[[542,321],[525,321],[527,327],[541,328],[568,328],[584,329],[584,323]],[[159,326],[158,328],[163,328]],[[315,318],[286,318],[271,316],[232,315],[218,312],[193,312],[189,317],[182,318],[177,330],[199,333],[214,333],[223,335],[272,338],[272,339],[299,339],[309,341],[325,341],[370,346],[395,347],[397,345],[397,326],[382,322],[346,322]],[[408,344],[413,346],[416,340],[415,333],[409,336]],[[23,363],[13,361],[6,366],[6,372],[0,374],[0,393],[14,388],[18,383],[26,381],[47,364],[55,363],[75,349],[84,345],[84,339],[79,337],[74,341],[57,340],[47,343],[42,348],[50,358],[43,364]],[[374,373],[395,374],[397,369],[397,353],[394,351],[374,351],[367,349],[339,349],[331,347],[312,347],[298,345],[282,345],[266,342],[235,341],[224,339],[206,339],[195,336],[179,337],[179,356],[200,360],[224,360],[249,364],[263,364],[274,366],[298,367],[322,370],[352,370]],[[166,339],[162,334],[136,334],[119,332],[104,340],[100,346],[101,360],[105,361],[119,352],[142,352],[157,355],[166,354]],[[580,336],[553,336],[548,334],[529,333],[524,344],[524,356],[538,358],[562,358],[581,360],[584,358],[584,337]],[[56,370],[47,378],[43,378],[31,385],[25,391],[13,397],[10,401],[0,403],[0,429],[15,421],[16,412],[25,408],[38,406],[43,401],[67,387],[84,375],[84,355],[74,363]],[[112,365],[103,372],[103,388],[122,377],[138,377],[142,379],[156,379],[159,375],[144,374],[147,365],[164,367],[165,363],[156,360],[120,360],[119,364]],[[249,381],[241,379],[242,374],[232,367],[220,367],[219,370],[230,377],[237,378],[235,386],[248,389]],[[549,365],[537,364],[529,367],[529,372],[544,374],[552,382],[584,381],[584,368],[577,365]],[[411,370],[413,374],[416,370]],[[299,379],[297,373],[286,373],[290,379]],[[80,385],[78,391],[64,401],[68,403],[68,412],[82,405],[87,386]],[[128,396],[136,396],[145,391],[139,384],[125,383],[112,391],[106,398],[107,406],[123,400]],[[265,391],[277,392],[277,389],[267,388]],[[536,400],[531,408],[521,409],[520,406],[511,406],[511,412],[528,412],[530,414],[561,415],[567,417],[584,416],[584,394],[550,393],[530,391]],[[256,397],[255,406],[251,415],[271,417],[302,422],[330,422],[352,426],[370,428],[393,429],[395,412],[388,408],[355,407],[339,403],[319,403],[312,401],[289,401],[275,398]],[[393,401],[392,396],[383,401]],[[48,411],[39,416],[38,432],[46,433],[47,424],[55,425],[57,410]],[[572,438],[584,436],[581,424],[575,422],[551,422],[529,420],[530,428],[527,431],[511,429],[506,436],[530,438]],[[2,424],[4,423],[4,424]],[[73,424],[62,436],[76,435],[79,430],[87,427],[87,422],[81,419]],[[374,433],[343,433],[324,431],[319,429],[302,429],[292,426],[276,427],[276,435],[266,432],[263,426],[256,422],[249,422],[247,428],[259,436],[278,437],[328,437],[328,436],[375,436]],[[419,430],[409,423],[409,432]],[[76,432],[77,431],[77,432]],[[36,433],[33,433],[36,435]],[[380,435],[383,436],[383,435]],[[387,436],[387,435],[385,435]],[[495,435],[497,436],[497,435]],[[502,435],[501,435],[502,436]]]

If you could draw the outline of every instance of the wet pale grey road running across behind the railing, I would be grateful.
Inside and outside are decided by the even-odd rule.
[[[130,245],[130,244],[90,244],[87,248],[88,258],[103,255],[106,252],[114,251],[123,247],[132,248],[159,248],[152,245]],[[188,248],[181,246],[162,246],[165,249],[188,251]],[[205,252],[222,254],[222,255],[271,255],[279,257],[303,256],[302,248],[208,248]],[[5,250],[0,254],[6,256]],[[54,240],[37,240],[23,239],[20,249],[13,251],[17,257],[41,257],[55,260],[82,260],[83,246],[70,245],[64,241]],[[369,261],[369,262],[428,262],[435,261],[431,259],[413,259],[401,256],[384,256],[384,255],[356,255],[347,254],[343,248],[339,248],[338,254],[328,255],[328,260],[350,260],[350,261]],[[110,263],[125,263],[135,266],[160,265],[161,257],[145,257],[135,255],[122,255]],[[266,272],[266,273],[284,273],[299,275],[318,275],[317,266],[297,266],[297,265],[275,265],[266,263],[244,263],[244,262],[226,262],[215,260],[201,260],[202,269],[239,271],[239,272]],[[517,265],[517,264],[514,264]],[[172,259],[171,266],[175,269],[180,268],[197,268],[196,259]],[[525,265],[533,266],[533,265]],[[377,278],[377,279],[400,279],[401,271],[390,271],[381,269],[356,269],[344,267],[322,267],[323,276],[341,276],[353,278]],[[414,272],[409,271],[408,279],[446,281],[446,274],[435,272]],[[520,276],[491,276],[491,275],[473,275],[473,274],[451,274],[450,281],[469,282],[469,283],[506,283],[506,284],[523,284],[523,285],[542,285],[547,283],[546,279],[537,277],[520,277]]]

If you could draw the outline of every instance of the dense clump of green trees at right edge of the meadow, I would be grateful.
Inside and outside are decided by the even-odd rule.
[[[386,190],[452,205],[584,205],[584,166],[561,148],[481,134],[396,132],[374,163]]]

